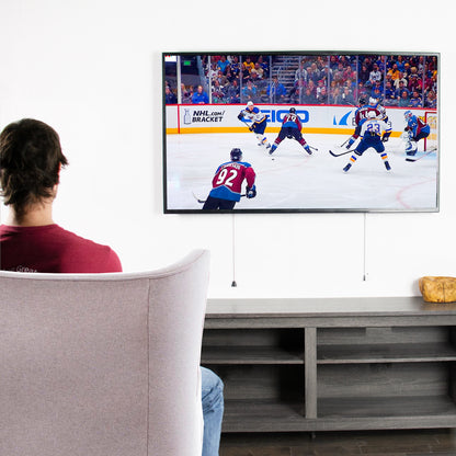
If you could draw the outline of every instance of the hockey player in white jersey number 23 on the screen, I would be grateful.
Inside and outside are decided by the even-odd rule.
[[[350,162],[343,169],[344,172],[347,172],[357,160],[357,157],[361,157],[369,147],[374,148],[377,153],[380,153],[385,168],[389,171],[391,167],[388,162],[388,155],[385,152],[384,142],[388,140],[390,134],[390,125],[378,119],[375,111],[369,111],[367,118],[361,122],[361,141],[352,157],[350,157]]]

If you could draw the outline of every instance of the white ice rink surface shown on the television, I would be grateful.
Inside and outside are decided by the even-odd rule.
[[[272,144],[275,134],[266,136]],[[270,156],[248,133],[168,135],[167,196],[170,210],[202,208],[194,194],[205,200],[219,164],[229,161],[229,152],[242,150],[243,161],[256,173],[256,197],[241,198],[236,210],[435,210],[438,187],[438,151],[422,157],[419,142],[415,162],[406,161],[404,144],[391,138],[385,144],[391,170],[380,156],[366,150],[345,173],[342,169],[351,153],[341,148],[346,135],[306,135],[317,148],[309,156],[294,139],[284,139]]]

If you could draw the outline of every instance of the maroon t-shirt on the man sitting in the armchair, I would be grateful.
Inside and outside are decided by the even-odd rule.
[[[0,226],[0,269],[16,272],[122,272],[117,254],[58,225]]]

